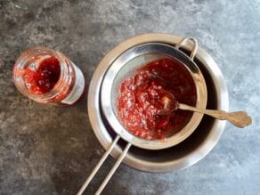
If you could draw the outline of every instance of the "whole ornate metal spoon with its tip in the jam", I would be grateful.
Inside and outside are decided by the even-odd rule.
[[[177,100],[175,99],[175,95],[167,91],[165,95],[160,99],[160,103],[163,105],[163,109],[159,110],[159,112],[157,113],[158,115],[168,115],[171,112],[180,109],[180,110],[190,110],[190,111],[199,112],[221,120],[228,120],[234,126],[238,126],[240,128],[249,126],[252,123],[252,119],[248,116],[247,112],[244,111],[226,112],[223,110],[206,110],[206,109],[195,108],[177,102]]]

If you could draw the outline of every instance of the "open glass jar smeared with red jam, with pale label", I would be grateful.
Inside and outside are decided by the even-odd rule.
[[[85,92],[82,71],[62,53],[44,47],[20,54],[13,81],[20,93],[41,103],[71,105]]]

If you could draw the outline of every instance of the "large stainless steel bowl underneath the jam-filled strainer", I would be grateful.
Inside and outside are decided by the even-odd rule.
[[[100,105],[100,90],[102,79],[110,64],[134,45],[144,43],[163,43],[176,45],[182,37],[165,34],[146,34],[132,37],[122,44],[113,48],[101,61],[93,74],[88,93],[88,114],[93,126],[93,132],[107,150],[116,136],[105,118],[102,117]],[[183,45],[185,52],[190,53],[192,45]],[[223,75],[215,61],[202,48],[194,58],[199,69],[202,71],[207,83],[207,109],[228,110],[228,93],[223,81]],[[124,159],[124,163],[130,167],[149,172],[167,172],[190,167],[204,158],[218,142],[225,121],[204,117],[197,129],[183,142],[166,150],[143,150],[132,147]],[[126,143],[121,141],[112,150],[111,155],[115,158],[122,152]]]

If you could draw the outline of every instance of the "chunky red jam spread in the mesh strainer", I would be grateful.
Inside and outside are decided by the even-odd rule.
[[[172,93],[177,102],[195,106],[196,86],[190,72],[171,59],[151,61],[124,79],[118,91],[118,116],[132,134],[147,140],[164,139],[177,133],[190,120],[192,112],[175,110],[158,115],[163,98]]]

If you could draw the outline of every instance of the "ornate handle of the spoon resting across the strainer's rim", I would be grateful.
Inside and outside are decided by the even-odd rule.
[[[183,103],[179,104],[179,109],[196,111],[221,120],[228,120],[234,126],[238,126],[240,128],[249,126],[252,123],[252,119],[248,116],[248,113],[244,111],[226,112],[223,110],[206,110],[195,108]]]

